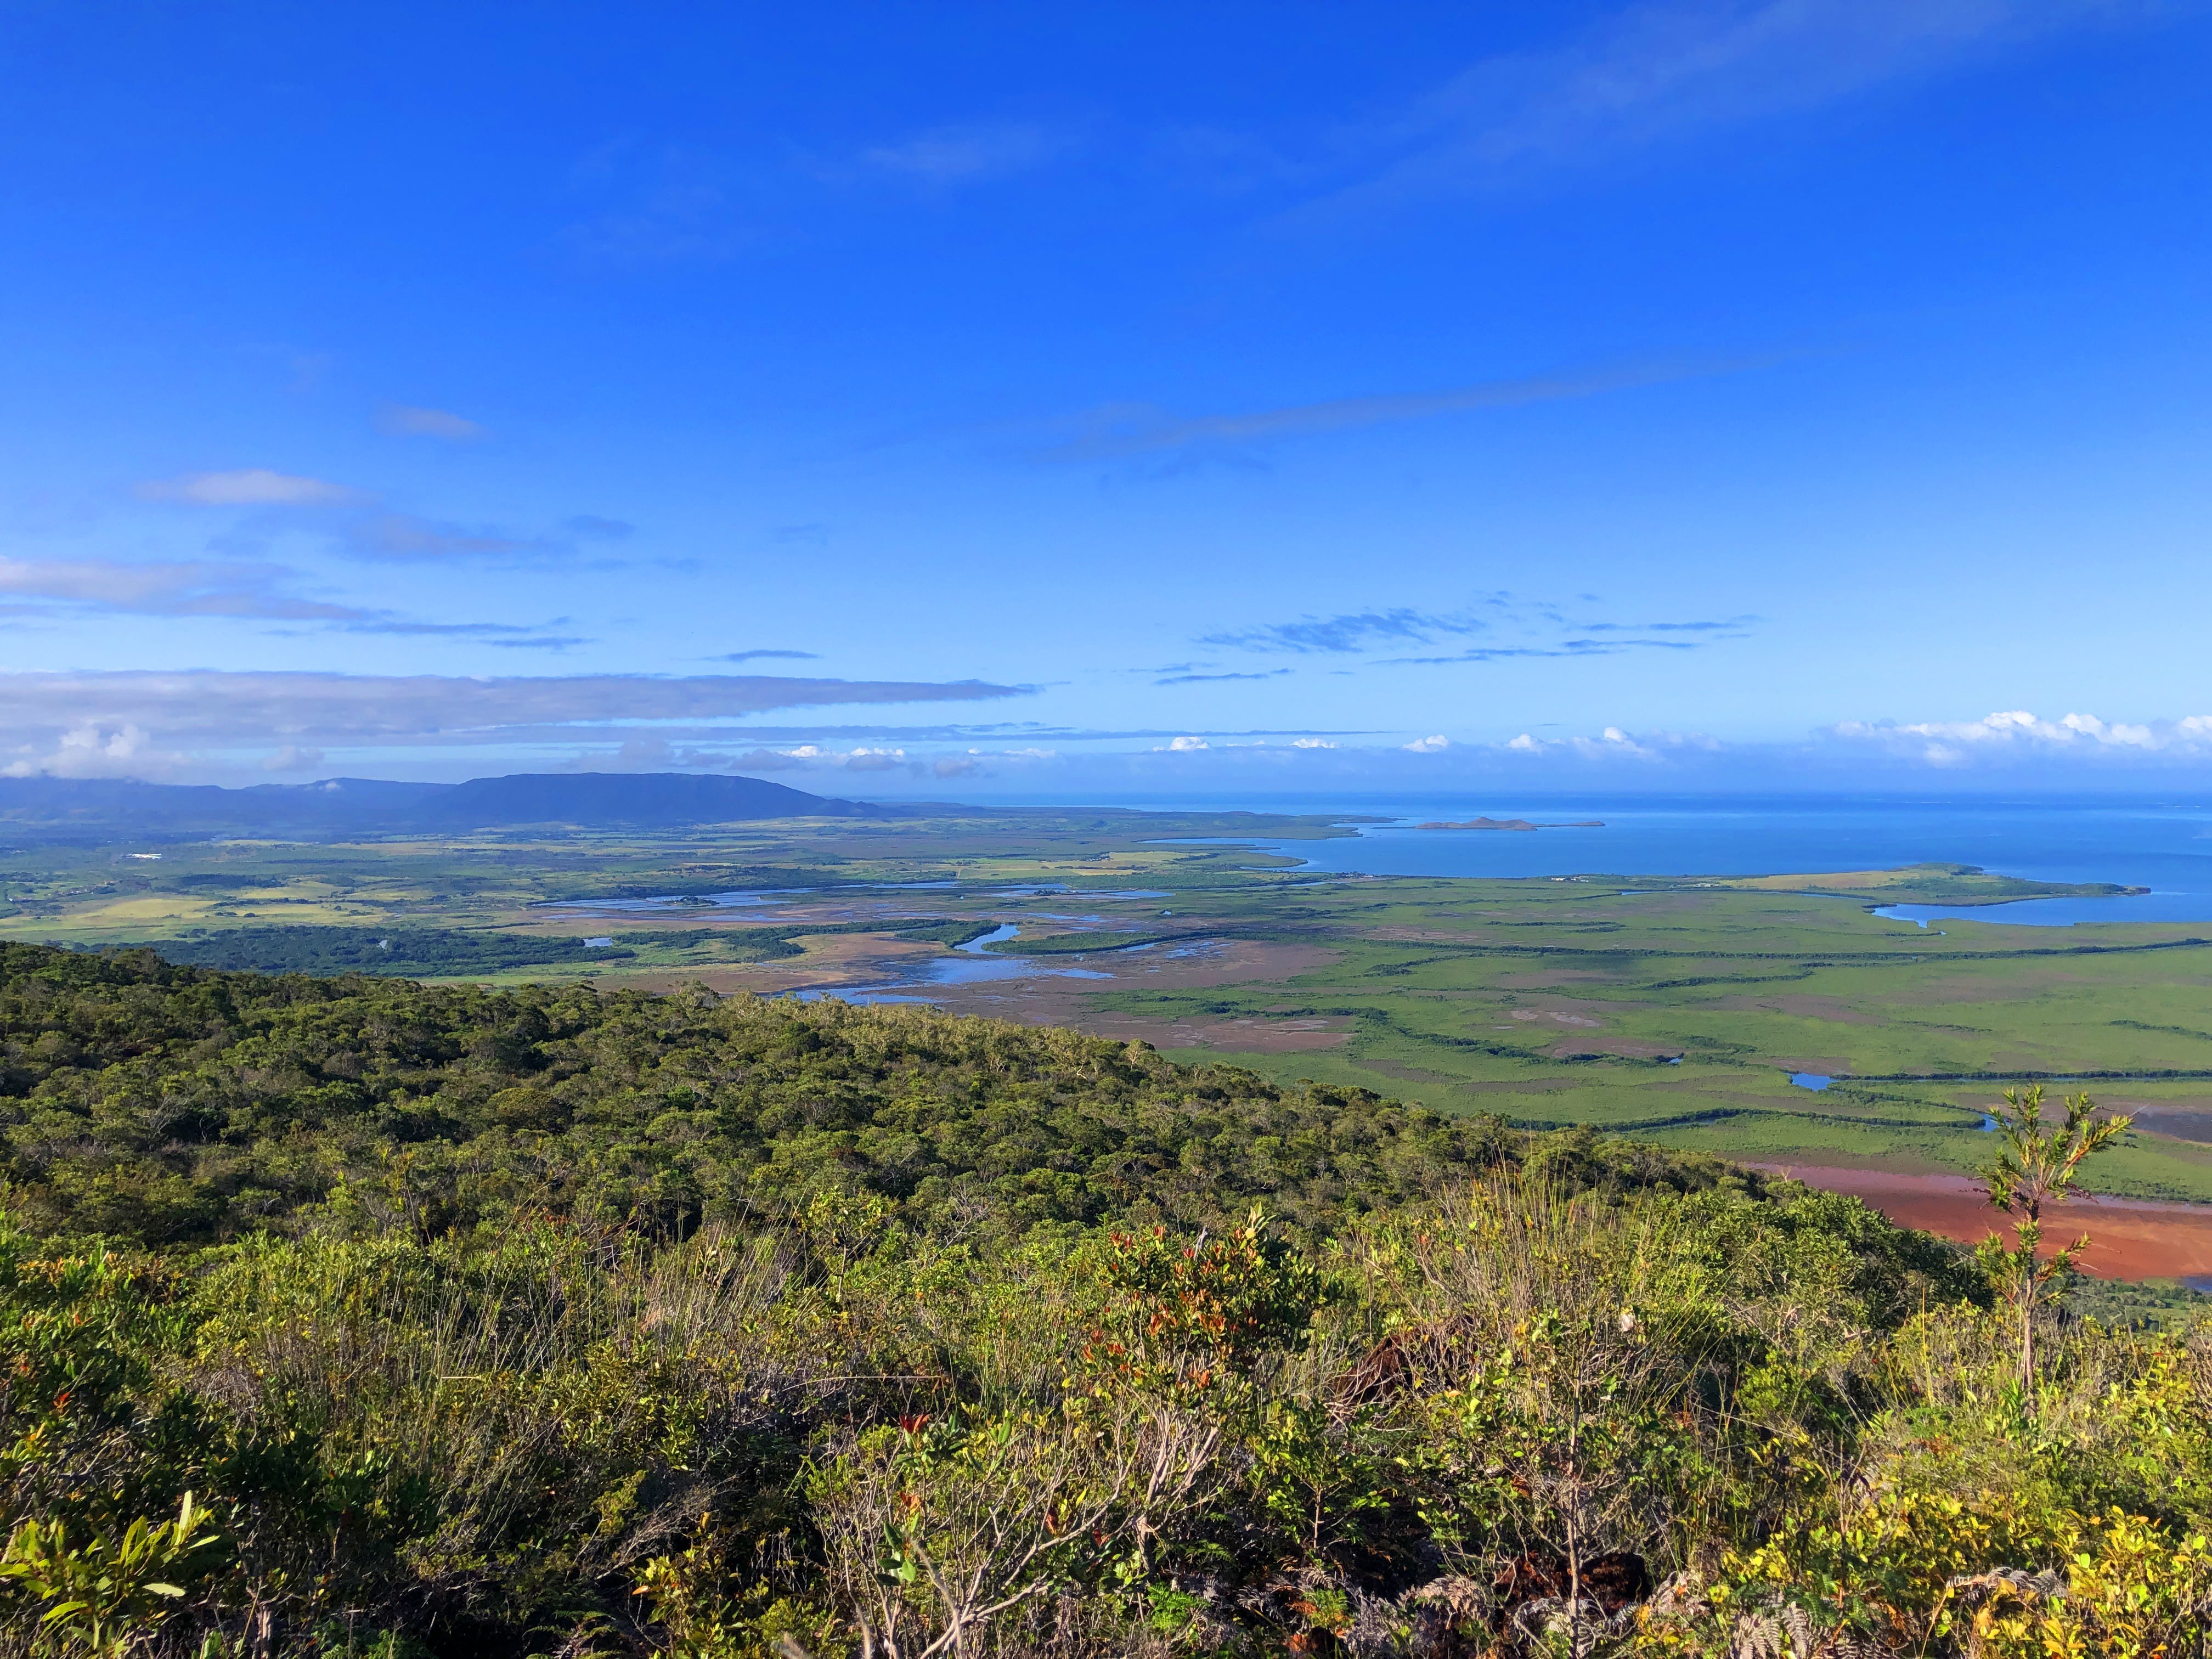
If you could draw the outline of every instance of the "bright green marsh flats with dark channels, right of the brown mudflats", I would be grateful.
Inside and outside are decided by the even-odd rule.
[[[1334,947],[1327,967],[1095,1000],[1186,1029],[1345,1031],[1243,1060],[1272,1077],[1794,1164],[1966,1170],[2002,1084],[2126,1073],[2081,1086],[2150,1106],[2166,1133],[2115,1155],[2108,1183],[2212,1197],[2212,1148],[2188,1139],[2212,1133],[2212,938],[2188,927],[1933,933],[1845,898],[1586,880],[1391,878],[1334,898],[1301,929]]]

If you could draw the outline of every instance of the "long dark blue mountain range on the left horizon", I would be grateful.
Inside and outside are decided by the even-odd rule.
[[[0,779],[0,838],[467,834],[524,825],[675,830],[752,818],[876,818],[889,807],[765,779],[518,772],[467,783],[323,779],[248,790],[111,779]]]

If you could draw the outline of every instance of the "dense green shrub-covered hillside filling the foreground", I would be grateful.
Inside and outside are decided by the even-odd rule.
[[[2203,1655],[2212,1332],[1144,1044],[0,947],[0,1652]]]

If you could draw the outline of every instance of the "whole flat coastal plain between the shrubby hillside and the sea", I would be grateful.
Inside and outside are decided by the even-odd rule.
[[[268,971],[927,1000],[1781,1168],[1971,1172],[1997,1091],[2044,1077],[2135,1113],[2106,1192],[2212,1199],[2212,927],[1874,914],[2086,891],[1960,865],[1301,869],[1298,841],[1343,834],[1318,816],[936,810],[44,845],[0,856],[0,927]]]

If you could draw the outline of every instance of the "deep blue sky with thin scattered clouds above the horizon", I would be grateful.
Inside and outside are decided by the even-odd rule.
[[[0,763],[2212,781],[2212,9],[0,4]]]

